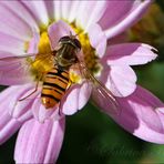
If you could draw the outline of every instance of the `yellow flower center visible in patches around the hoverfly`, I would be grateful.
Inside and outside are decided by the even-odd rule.
[[[85,65],[90,70],[90,72],[93,75],[96,75],[101,72],[101,64],[99,63],[99,58],[96,55],[95,49],[91,45],[90,39],[88,33],[84,33],[84,30],[81,28],[76,28],[74,23],[70,24],[74,32],[78,33],[79,40],[82,45],[82,52],[83,52],[83,60],[85,62]],[[50,40],[47,30],[43,30],[40,34],[40,41],[38,43],[38,50],[39,53],[35,57],[35,60],[32,62],[28,59],[28,63],[31,65],[31,73],[35,76],[35,80],[41,80],[40,76],[42,76],[41,72],[48,72],[52,68],[52,62],[50,58],[51,54],[51,47],[50,47]],[[75,71],[70,71],[70,80],[73,83],[81,83],[81,78]]]

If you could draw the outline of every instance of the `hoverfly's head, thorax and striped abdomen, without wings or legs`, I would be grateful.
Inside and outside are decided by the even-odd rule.
[[[41,100],[47,109],[53,107],[63,98],[69,88],[69,69],[78,62],[76,53],[81,43],[74,35],[65,35],[59,40],[60,48],[55,52],[54,66],[45,74]]]

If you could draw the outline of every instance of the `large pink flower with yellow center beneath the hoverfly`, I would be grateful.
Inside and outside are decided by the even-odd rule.
[[[41,104],[38,99],[41,86],[29,99],[19,101],[34,90],[35,82],[31,72],[27,71],[30,65],[27,59],[14,57],[27,52],[49,52],[50,48],[57,48],[59,39],[70,34],[70,31],[79,32],[81,55],[86,58],[89,69],[95,74],[99,73],[100,80],[115,95],[121,113],[114,115],[110,111],[111,107],[104,105],[109,104],[105,103],[106,99],[100,100],[96,93],[92,93],[92,88],[83,82],[72,85],[61,100],[60,111],[63,115],[81,110],[92,94],[101,109],[125,130],[143,140],[164,143],[163,114],[155,110],[163,106],[163,103],[150,92],[136,86],[136,76],[130,66],[154,60],[154,49],[142,43],[106,48],[106,40],[137,21],[150,3],[150,0],[0,3],[0,57],[10,57],[10,62],[0,60],[0,83],[12,85],[0,94],[0,143],[21,127],[14,153],[17,163],[57,161],[63,140],[64,116],[59,115],[58,106],[48,111]],[[47,64],[47,60],[42,62]],[[78,76],[73,76],[74,82]]]

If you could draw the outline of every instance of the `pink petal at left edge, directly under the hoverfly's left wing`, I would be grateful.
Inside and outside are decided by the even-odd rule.
[[[31,79],[27,60],[33,54],[0,59],[0,84],[22,84]]]

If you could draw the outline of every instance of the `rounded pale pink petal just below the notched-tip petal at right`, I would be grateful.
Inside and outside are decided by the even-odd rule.
[[[104,66],[101,81],[115,96],[127,96],[136,89],[136,75],[127,65]]]

